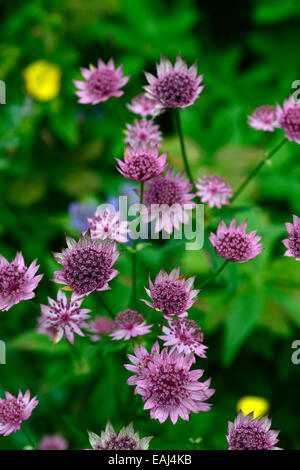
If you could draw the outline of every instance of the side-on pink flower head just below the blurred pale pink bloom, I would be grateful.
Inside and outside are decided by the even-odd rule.
[[[158,156],[157,149],[132,149],[127,147],[124,152],[124,161],[116,158],[117,170],[130,181],[148,181],[165,171],[167,154]]]

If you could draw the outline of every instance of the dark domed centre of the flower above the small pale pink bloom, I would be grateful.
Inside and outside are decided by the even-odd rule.
[[[186,310],[188,292],[183,282],[166,280],[151,289],[154,308],[166,315],[179,315]]]

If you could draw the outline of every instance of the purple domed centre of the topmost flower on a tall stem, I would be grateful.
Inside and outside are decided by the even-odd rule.
[[[197,91],[197,83],[192,75],[183,71],[173,71],[158,78],[154,84],[154,95],[167,108],[188,106]]]

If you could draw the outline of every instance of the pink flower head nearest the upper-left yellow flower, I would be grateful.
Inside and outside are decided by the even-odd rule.
[[[79,96],[78,103],[98,104],[101,101],[107,101],[112,96],[119,98],[124,94],[120,88],[126,85],[129,77],[122,77],[123,66],[120,65],[116,69],[113,59],[110,59],[107,64],[99,59],[98,67],[90,65],[89,69],[81,68],[80,70],[86,81],[73,80],[79,90],[75,92]]]

